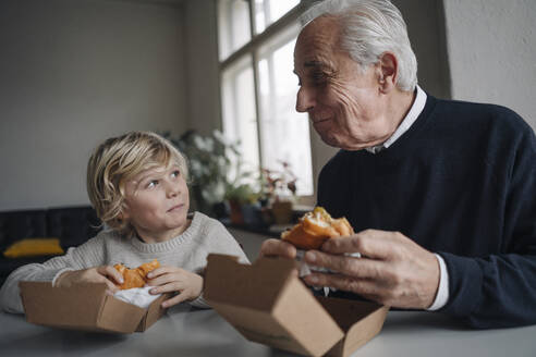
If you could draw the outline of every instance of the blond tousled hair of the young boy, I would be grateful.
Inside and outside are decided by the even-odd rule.
[[[134,233],[121,219],[126,181],[145,170],[172,164],[187,182],[186,158],[155,133],[131,132],[100,144],[87,163],[87,195],[102,223],[127,235]]]

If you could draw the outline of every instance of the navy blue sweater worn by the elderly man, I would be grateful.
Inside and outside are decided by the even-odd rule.
[[[536,138],[511,110],[428,96],[388,149],[340,150],[318,205],[356,232],[399,231],[440,254],[440,311],[474,328],[536,323]]]

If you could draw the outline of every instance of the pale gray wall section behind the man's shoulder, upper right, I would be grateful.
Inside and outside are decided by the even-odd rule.
[[[509,107],[536,128],[536,1],[443,2],[453,98]]]

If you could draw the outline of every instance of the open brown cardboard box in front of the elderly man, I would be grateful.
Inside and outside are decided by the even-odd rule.
[[[247,340],[301,355],[345,357],[379,333],[388,307],[317,298],[294,268],[289,259],[246,266],[209,255],[204,297]]]

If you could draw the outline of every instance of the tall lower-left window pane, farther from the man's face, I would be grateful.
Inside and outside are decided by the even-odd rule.
[[[258,171],[258,138],[251,58],[244,58],[222,74],[223,132],[241,140],[243,169]],[[231,173],[231,178],[234,178]]]

